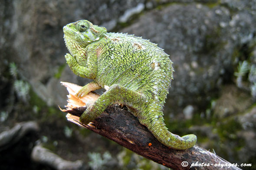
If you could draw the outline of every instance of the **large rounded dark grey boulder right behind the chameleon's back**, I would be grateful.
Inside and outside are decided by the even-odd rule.
[[[172,4],[145,13],[121,32],[150,39],[170,55],[175,72],[167,106],[204,106],[209,92],[230,80],[233,53],[253,40],[255,19],[223,6]]]

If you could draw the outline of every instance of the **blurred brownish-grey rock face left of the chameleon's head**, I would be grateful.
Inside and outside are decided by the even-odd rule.
[[[22,77],[48,105],[63,106],[66,103],[66,90],[58,82],[84,85],[90,80],[75,76],[69,68],[59,73],[60,77],[55,76],[66,63],[64,55],[68,52],[62,27],[87,19],[96,25],[105,23],[108,29],[113,29],[125,11],[136,7],[143,10],[141,6],[144,6],[144,0],[71,0],[59,3],[51,0],[28,0],[26,3],[6,1],[1,5],[1,13],[4,13],[0,15],[3,21],[0,28],[3,34],[0,38],[0,58],[14,61]],[[4,70],[3,67],[0,69]]]

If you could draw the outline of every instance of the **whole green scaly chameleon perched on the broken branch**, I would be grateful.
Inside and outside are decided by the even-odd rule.
[[[197,136],[180,137],[164,124],[163,106],[173,80],[173,62],[157,44],[127,33],[107,32],[87,20],[63,27],[70,54],[66,62],[78,76],[92,79],[76,93],[81,98],[91,91],[106,91],[95,102],[86,103],[79,121],[92,122],[114,103],[127,106],[142,125],[162,144],[183,150],[191,148]]]

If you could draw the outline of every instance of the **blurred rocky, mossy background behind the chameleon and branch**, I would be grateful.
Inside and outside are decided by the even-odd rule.
[[[164,48],[175,69],[164,106],[169,130],[256,168],[256,0],[0,0],[1,170],[61,169],[31,158],[35,146],[81,160],[72,162],[76,169],[167,170],[59,111],[67,95],[60,81],[90,81],[64,58],[62,27],[80,19]],[[13,127],[28,121],[14,139],[21,131]]]

